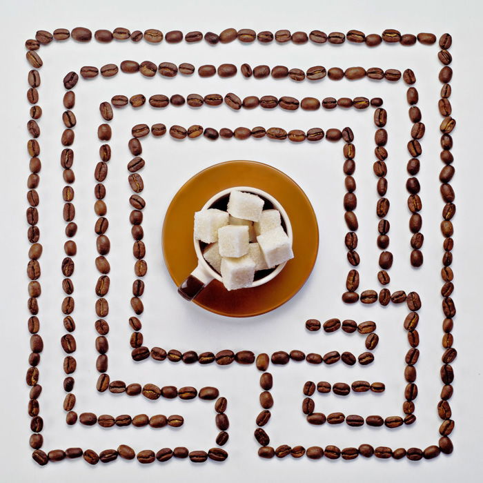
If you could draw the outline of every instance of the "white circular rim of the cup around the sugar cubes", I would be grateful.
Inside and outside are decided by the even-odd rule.
[[[293,231],[292,231],[292,225],[290,224],[290,219],[288,218],[287,212],[282,206],[282,204],[279,203],[279,201],[270,195],[270,193],[266,193],[264,190],[260,190],[259,188],[253,188],[253,186],[232,186],[231,188],[226,188],[224,190],[219,191],[218,193],[215,193],[206,203],[203,205],[201,210],[206,210],[208,209],[217,199],[228,195],[228,193],[231,193],[233,190],[237,191],[244,191],[246,193],[253,193],[254,195],[262,195],[264,198],[268,199],[268,201],[273,204],[273,207],[277,210],[279,210],[280,215],[284,219],[285,223],[285,228],[286,228],[286,233],[288,236],[288,239],[290,240],[290,244],[293,244]],[[198,258],[198,264],[201,264],[201,266],[206,270],[210,276],[212,276],[214,279],[217,279],[219,282],[223,282],[221,279],[221,275],[206,262],[206,259],[203,256],[203,253],[201,253],[201,248],[199,246],[199,240],[195,239],[195,236],[193,235],[193,244],[195,245],[195,252]],[[286,265],[287,262],[284,262],[283,264],[279,264],[273,272],[269,273],[266,275],[266,277],[263,277],[261,279],[255,280],[253,284],[250,286],[250,288],[253,287],[258,287],[260,285],[266,284],[267,282],[270,282],[270,280],[274,279],[277,277],[277,275],[284,269],[284,266]]]

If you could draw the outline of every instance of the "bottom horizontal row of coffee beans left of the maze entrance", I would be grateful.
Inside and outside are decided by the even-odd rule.
[[[62,449],[54,449],[45,453],[41,449],[37,449],[32,453],[32,457],[35,462],[43,466],[48,462],[59,462],[62,460],[75,460],[76,458],[83,457],[83,460],[88,462],[88,464],[110,463],[117,460],[117,457],[123,460],[134,460],[135,458],[141,464],[149,464],[155,462],[166,462],[172,457],[184,460],[189,458],[193,463],[202,463],[208,460],[221,462],[225,461],[228,457],[228,453],[221,448],[212,448],[208,451],[189,451],[184,446],[177,446],[175,449],[163,448],[155,453],[149,449],[135,451],[126,444],[121,444],[117,450],[115,449],[105,449],[99,454],[92,449],[86,449],[83,451],[81,448],[68,448],[66,451]]]

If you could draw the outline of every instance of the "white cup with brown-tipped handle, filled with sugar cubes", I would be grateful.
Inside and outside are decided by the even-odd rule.
[[[193,300],[213,279],[226,290],[270,282],[293,258],[293,233],[284,207],[258,188],[223,190],[194,213],[198,265],[178,293]]]

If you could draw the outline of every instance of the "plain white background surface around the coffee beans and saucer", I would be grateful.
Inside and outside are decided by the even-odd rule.
[[[70,480],[80,482],[90,478],[93,481],[110,481],[115,477],[122,480],[141,479],[142,477],[162,480],[261,480],[289,481],[320,478],[342,481],[477,481],[480,464],[477,451],[481,447],[482,422],[480,406],[482,400],[481,380],[481,336],[480,315],[480,255],[482,248],[481,194],[478,181],[482,179],[481,155],[481,115],[480,79],[482,76],[478,20],[482,10],[476,1],[406,1],[404,3],[372,1],[359,3],[354,1],[210,1],[203,5],[197,2],[118,0],[115,2],[84,0],[69,3],[65,1],[19,1],[3,3],[1,6],[1,76],[0,92],[2,115],[0,119],[1,146],[3,147],[2,203],[1,203],[1,254],[2,277],[0,279],[0,297],[2,311],[1,342],[1,437],[0,459],[1,482],[21,482],[27,478],[39,482]],[[108,217],[110,228],[108,235],[112,241],[109,255],[112,266],[111,289],[108,294],[110,315],[108,322],[111,331],[109,362],[112,378],[130,382],[153,382],[159,386],[193,385],[202,387],[214,385],[221,394],[228,398],[228,417],[230,417],[230,440],[225,446],[230,453],[224,464],[195,465],[190,462],[171,460],[166,464],[155,462],[142,466],[137,462],[124,460],[113,464],[98,464],[91,467],[83,461],[48,464],[40,468],[30,457],[28,431],[30,418],[27,415],[28,388],[24,382],[28,340],[26,330],[28,312],[26,310],[27,284],[25,275],[28,242],[25,221],[26,179],[28,177],[28,155],[26,153],[26,121],[28,103],[26,102],[26,75],[28,64],[25,61],[25,39],[33,37],[39,29],[54,30],[86,26],[94,32],[98,28],[113,30],[124,26],[130,30],[159,28],[166,32],[179,29],[183,32],[212,30],[220,32],[224,28],[253,28],[275,30],[288,28],[293,32],[310,32],[317,28],[325,32],[346,32],[356,28],[366,32],[382,32],[384,28],[397,28],[402,32],[435,32],[439,37],[443,32],[453,34],[453,69],[454,79],[453,116],[457,119],[454,132],[455,168],[457,175],[452,181],[456,191],[457,216],[455,217],[455,250],[453,268],[455,270],[454,299],[457,306],[455,318],[455,347],[458,357],[455,367],[455,395],[451,400],[456,428],[451,435],[455,452],[447,457],[442,455],[431,462],[408,462],[365,460],[359,457],[355,462],[338,460],[331,462],[324,458],[311,462],[306,457],[293,460],[266,462],[257,457],[257,442],[253,438],[255,416],[260,411],[258,404],[258,377],[255,366],[230,366],[221,368],[213,364],[209,367],[175,365],[169,362],[155,364],[151,360],[135,364],[130,359],[128,338],[131,330],[127,319],[130,315],[129,297],[132,283],[131,238],[128,224],[128,196],[126,183],[126,163],[130,154],[126,148],[130,127],[137,123],[152,124],[163,122],[167,126],[181,124],[201,124],[214,128],[237,126],[253,127],[257,125],[280,126],[290,130],[304,130],[318,126],[326,130],[330,127],[351,126],[355,132],[357,147],[357,181],[359,217],[359,248],[362,258],[359,266],[361,288],[377,288],[377,219],[375,216],[375,177],[373,163],[373,110],[363,112],[336,110],[327,112],[284,112],[261,109],[233,112],[220,106],[217,109],[201,108],[193,110],[167,108],[153,110],[149,106],[139,112],[125,108],[115,112],[112,121],[113,156],[109,165],[106,181],[108,190]],[[95,235],[92,227],[95,216],[92,210],[94,197],[93,170],[97,163],[97,124],[101,122],[98,112],[99,102],[108,100],[112,95],[133,95],[142,92],[148,97],[155,93],[188,95],[198,92],[206,95],[210,92],[235,92],[240,97],[246,95],[293,95],[301,99],[312,95],[324,97],[368,98],[380,96],[388,110],[388,198],[391,211],[391,250],[395,264],[391,269],[391,290],[417,290],[424,306],[418,330],[421,337],[421,357],[417,363],[417,384],[420,395],[416,401],[417,422],[413,426],[389,430],[387,428],[348,428],[346,425],[331,427],[309,426],[304,421],[300,410],[302,403],[302,385],[306,380],[326,380],[329,382],[352,382],[363,379],[383,381],[386,393],[374,395],[351,395],[345,399],[335,395],[315,394],[318,411],[331,413],[342,411],[346,414],[362,415],[382,414],[399,415],[401,413],[402,393],[404,391],[404,354],[408,344],[402,329],[402,320],[406,314],[403,307],[380,306],[361,307],[344,306],[340,302],[340,293],[344,288],[346,272],[350,268],[345,261],[345,248],[342,242],[345,228],[343,221],[342,197],[344,194],[342,175],[341,144],[304,143],[294,146],[288,143],[274,143],[266,139],[261,141],[224,141],[216,143],[201,138],[195,141],[185,140],[178,143],[164,139],[143,141],[143,157],[147,161],[144,170],[146,198],[148,206],[145,213],[145,242],[148,249],[146,259],[149,264],[146,277],[144,303],[146,311],[142,317],[143,333],[148,346],[178,348],[181,351],[193,349],[198,352],[218,351],[231,348],[239,351],[243,348],[255,353],[276,350],[290,351],[299,348],[308,352],[326,353],[331,350],[364,350],[363,339],[359,335],[336,333],[306,333],[304,321],[318,318],[324,321],[331,317],[352,318],[358,322],[372,319],[377,324],[380,345],[375,350],[376,360],[368,368],[308,366],[306,363],[291,363],[285,367],[272,368],[275,385],[273,395],[275,406],[273,417],[266,430],[272,438],[271,444],[302,444],[306,447],[318,444],[336,444],[340,448],[370,443],[373,446],[387,445],[420,446],[435,444],[438,438],[436,404],[440,393],[440,358],[442,348],[442,311],[440,308],[440,266],[442,256],[442,236],[440,235],[440,212],[442,200],[439,194],[438,172],[442,167],[439,159],[439,136],[437,126],[440,115],[437,112],[437,99],[440,84],[435,81],[440,63],[436,57],[436,46],[417,45],[402,48],[382,45],[375,49],[346,43],[344,46],[307,46],[284,45],[273,43],[270,46],[242,45],[238,42],[210,47],[205,42],[194,46],[181,43],[168,46],[161,43],[152,46],[146,42],[133,44],[113,42],[108,46],[92,41],[81,45],[68,41],[63,45],[52,43],[41,48],[40,55],[45,63],[41,69],[42,86],[39,90],[39,104],[44,115],[39,125],[42,135],[41,185],[39,195],[41,205],[41,243],[44,251],[41,257],[43,295],[39,299],[41,306],[41,331],[45,349],[39,366],[43,393],[40,397],[41,416],[45,422],[43,436],[46,451],[68,446],[88,447],[101,451],[117,448],[119,444],[130,444],[136,451],[157,449],[177,445],[190,449],[208,449],[214,446],[215,430],[213,404],[199,400],[190,402],[167,402],[159,400],[148,402],[144,398],[128,398],[124,395],[102,395],[95,391],[95,322],[94,285],[97,278],[94,259]],[[113,428],[105,430],[98,426],[86,428],[77,424],[66,427],[63,400],[62,359],[63,353],[59,338],[63,334],[62,315],[60,312],[61,273],[63,258],[63,220],[61,217],[61,168],[59,166],[59,143],[61,130],[61,97],[63,86],[61,79],[70,70],[77,70],[83,65],[102,66],[105,63],[117,63],[124,59],[143,61],[149,59],[155,63],[173,61],[190,62],[196,67],[203,63],[218,65],[233,62],[238,66],[244,62],[255,66],[267,63],[269,66],[282,64],[288,68],[306,69],[313,65],[326,68],[361,65],[366,68],[413,68],[417,76],[416,87],[420,92],[420,108],[426,124],[426,135],[422,141],[424,153],[421,157],[422,169],[418,178],[422,184],[424,209],[423,233],[424,266],[413,270],[408,264],[410,233],[407,228],[408,210],[406,208],[406,142],[411,124],[406,110],[406,88],[401,83],[395,85],[386,82],[340,81],[335,83],[324,79],[319,83],[293,83],[290,80],[273,81],[265,79],[243,79],[241,75],[233,79],[191,78],[154,79],[140,75],[119,74],[114,79],[95,79],[79,81],[75,91],[77,104],[75,114],[78,126],[75,128],[76,141],[74,170],[76,221],[79,232],[75,237],[78,255],[75,259],[76,272],[72,277],[75,283],[75,301],[77,308],[77,353],[75,357],[78,369],[75,373],[77,395],[76,411],[92,411],[97,414],[113,415],[128,413],[180,413],[184,415],[185,426],[177,430],[163,428]],[[253,319],[228,319],[202,311],[194,304],[184,302],[178,297],[175,287],[166,271],[161,255],[160,230],[165,210],[177,189],[196,172],[217,162],[229,159],[253,159],[272,164],[284,170],[302,186],[311,199],[319,221],[321,243],[315,270],[301,292],[288,304],[273,313]]]

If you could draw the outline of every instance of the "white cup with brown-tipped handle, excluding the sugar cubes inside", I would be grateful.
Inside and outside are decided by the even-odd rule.
[[[208,201],[206,201],[201,210],[207,210],[208,208],[210,208],[210,206],[215,204],[216,201],[226,195],[229,195],[232,191],[245,191],[247,193],[253,193],[254,195],[259,195],[270,201],[270,203],[273,204],[273,208],[279,210],[282,220],[285,224],[288,239],[290,240],[290,244],[292,243],[292,226],[290,224],[290,220],[288,219],[287,213],[284,210],[284,207],[279,204],[279,202],[272,195],[269,195],[265,191],[259,190],[258,188],[250,188],[250,186],[233,186],[233,188],[227,188],[226,190],[220,191],[219,193],[208,199]],[[196,256],[198,257],[198,265],[178,288],[179,295],[184,297],[186,300],[193,300],[198,295],[198,293],[203,290],[213,279],[217,279],[219,280],[219,282],[222,282],[221,275],[219,275],[216,270],[213,270],[213,268],[204,259],[203,253],[201,253],[201,246],[199,245],[199,240],[195,239],[194,236],[193,243],[195,245]],[[284,262],[283,264],[279,264],[277,268],[275,268],[275,270],[266,275],[266,277],[255,280],[255,282],[253,282],[252,284],[252,287],[258,287],[260,285],[266,284],[267,282],[270,282],[270,280],[277,277],[277,275],[284,269],[285,264],[286,262]]]

